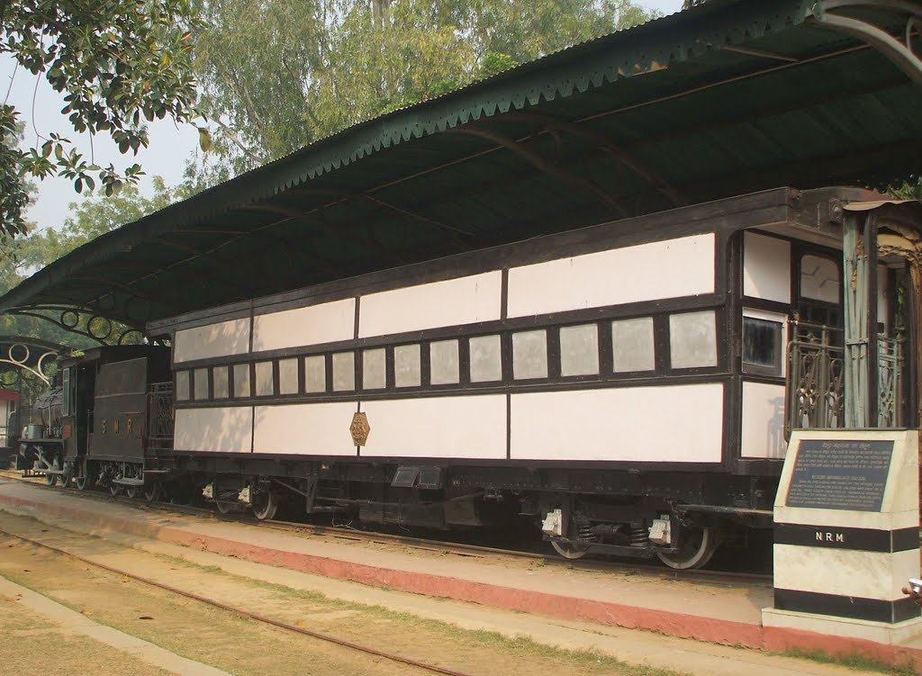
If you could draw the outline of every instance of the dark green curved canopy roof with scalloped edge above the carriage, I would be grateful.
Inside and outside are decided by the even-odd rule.
[[[922,157],[922,62],[905,43],[916,7],[710,0],[125,225],[8,292],[0,312],[76,306],[143,326],[776,185],[903,181]]]

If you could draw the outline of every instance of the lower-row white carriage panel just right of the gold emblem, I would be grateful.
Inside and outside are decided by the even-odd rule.
[[[506,457],[506,397],[363,401],[372,433],[362,457]]]

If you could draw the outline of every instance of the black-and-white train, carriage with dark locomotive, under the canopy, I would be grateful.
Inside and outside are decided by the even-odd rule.
[[[779,188],[158,321],[171,374],[156,346],[64,362],[43,468],[262,518],[525,518],[566,556],[702,566],[771,527],[787,429],[846,424],[846,209],[881,242],[922,230],[877,199]],[[888,252],[864,305],[887,356],[871,426],[915,426],[915,285]]]

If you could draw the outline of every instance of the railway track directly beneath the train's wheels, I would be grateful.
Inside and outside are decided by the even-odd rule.
[[[574,561],[573,559],[566,559],[562,556],[552,554],[550,552],[541,553],[536,551],[502,549],[464,542],[431,540],[403,534],[360,530],[348,526],[316,525],[276,519],[266,519],[261,521],[254,518],[253,516],[246,516],[244,514],[223,515],[213,508],[191,504],[171,504],[157,501],[144,502],[138,499],[127,498],[122,495],[110,495],[105,492],[78,491],[76,488],[48,486],[45,484],[41,477],[22,477],[18,474],[18,472],[10,470],[0,470],[0,478],[27,483],[30,486],[37,486],[43,490],[67,492],[69,494],[77,495],[90,500],[97,500],[106,503],[125,504],[137,509],[168,510],[171,512],[178,512],[180,514],[204,516],[207,518],[213,518],[219,521],[228,521],[231,523],[259,525],[261,528],[274,528],[277,530],[296,533],[299,535],[307,535],[310,537],[327,538],[331,540],[346,540],[350,542],[365,542],[369,544],[385,544],[399,546],[410,550],[450,554],[453,556],[467,558],[477,558],[483,560],[496,557],[530,559],[536,562],[541,562],[542,565],[560,566],[561,568],[566,568],[568,570],[582,570],[598,573],[616,571],[621,573],[627,572],[631,575],[645,575],[663,580],[681,580],[691,583],[706,583],[709,585],[739,586],[742,584],[748,584],[771,586],[773,580],[772,575],[762,573],[709,569],[674,570],[657,563],[643,563],[624,560],[581,559]]]

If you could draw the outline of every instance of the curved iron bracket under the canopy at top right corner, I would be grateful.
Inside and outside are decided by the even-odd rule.
[[[848,10],[885,12],[904,22],[897,34],[875,26],[863,18],[849,16]],[[922,85],[922,57],[916,42],[922,40],[922,7],[910,0],[821,0],[813,6],[813,17],[822,26],[867,42],[917,85]]]

